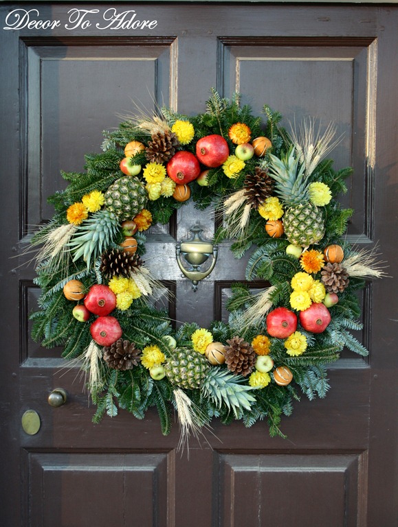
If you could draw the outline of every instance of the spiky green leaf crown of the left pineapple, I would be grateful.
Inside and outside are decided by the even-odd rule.
[[[74,261],[83,257],[89,269],[91,261],[96,260],[102,251],[113,242],[119,232],[119,221],[112,212],[101,210],[76,229],[68,247],[74,253]]]

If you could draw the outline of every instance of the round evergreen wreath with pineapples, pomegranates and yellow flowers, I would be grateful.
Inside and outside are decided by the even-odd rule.
[[[281,417],[302,394],[327,395],[326,365],[344,347],[368,353],[351,333],[362,328],[357,292],[383,271],[343,237],[353,210],[336,196],[351,168],[327,159],[335,127],[305,119],[287,132],[280,113],[263,114],[212,90],[205,113],[129,117],[103,132],[85,172],[62,172],[69,184],[49,198],[56,213],[32,238],[41,288],[32,336],[80,362],[94,422],[119,408],[144,419],[155,406],[168,434],[174,407],[183,442],[214,417],[265,419],[284,436]],[[245,280],[268,286],[252,294],[234,283],[228,323],[175,329],[153,305],[164,286],[142,256],[145,231],[189,199],[214,205],[223,218],[214,243],[231,239],[236,258],[250,250]]]

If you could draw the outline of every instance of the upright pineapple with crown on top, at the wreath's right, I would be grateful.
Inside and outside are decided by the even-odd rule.
[[[282,159],[269,154],[269,176],[276,182],[275,192],[285,205],[283,226],[291,244],[307,247],[324,236],[322,211],[309,200],[309,181],[305,165],[299,167],[294,147]]]

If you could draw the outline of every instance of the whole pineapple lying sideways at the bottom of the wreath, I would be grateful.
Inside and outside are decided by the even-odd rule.
[[[166,375],[172,384],[188,390],[199,388],[203,397],[212,399],[217,408],[222,403],[232,410],[236,419],[241,410],[251,409],[256,399],[241,375],[233,375],[226,368],[212,367],[204,355],[188,348],[177,348],[165,366]]]

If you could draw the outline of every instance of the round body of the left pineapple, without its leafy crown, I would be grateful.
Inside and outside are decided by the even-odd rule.
[[[145,185],[134,176],[116,180],[105,192],[105,208],[120,221],[134,218],[144,209],[147,200]]]

